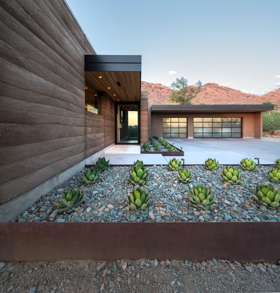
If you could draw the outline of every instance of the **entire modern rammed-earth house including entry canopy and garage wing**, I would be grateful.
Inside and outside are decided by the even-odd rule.
[[[150,105],[141,56],[96,54],[65,1],[0,7],[1,220],[114,144],[262,138],[273,105]]]

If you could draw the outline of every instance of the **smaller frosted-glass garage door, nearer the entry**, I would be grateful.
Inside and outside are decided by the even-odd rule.
[[[163,138],[187,138],[187,118],[163,118]]]

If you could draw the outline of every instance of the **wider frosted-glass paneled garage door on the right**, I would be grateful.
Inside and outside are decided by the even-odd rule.
[[[241,137],[241,117],[194,117],[193,137]]]

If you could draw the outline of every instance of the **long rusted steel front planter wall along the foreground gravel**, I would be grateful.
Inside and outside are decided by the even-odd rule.
[[[280,222],[0,223],[0,261],[280,260]]]

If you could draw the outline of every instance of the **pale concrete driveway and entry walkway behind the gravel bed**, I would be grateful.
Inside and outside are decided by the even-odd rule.
[[[273,164],[280,157],[280,141],[267,139],[168,139],[168,142],[184,151],[185,164],[203,164],[208,158],[216,158],[220,164],[239,164],[244,157],[260,158],[260,164]],[[173,157],[161,154],[140,154],[139,145],[114,145],[104,154],[112,165],[131,165],[142,160],[147,165],[166,165]],[[257,161],[257,160],[256,160]]]

